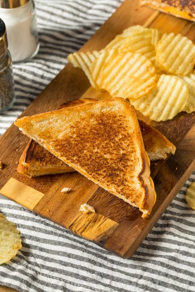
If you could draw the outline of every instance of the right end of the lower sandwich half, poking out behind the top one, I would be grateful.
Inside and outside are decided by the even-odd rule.
[[[145,150],[151,161],[166,159],[167,154],[175,154],[176,147],[159,131],[138,121],[141,130]]]

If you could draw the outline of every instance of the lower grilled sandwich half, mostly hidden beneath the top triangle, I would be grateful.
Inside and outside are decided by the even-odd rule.
[[[97,100],[83,98],[68,101],[61,105],[59,109],[74,107],[89,102],[97,102]],[[142,121],[138,122],[145,150],[151,161],[166,159],[167,154],[175,153],[176,147],[164,135],[146,123]],[[65,164],[61,159],[50,153],[32,139],[27,144],[21,155],[17,170],[21,174],[29,177],[75,171],[74,168]]]

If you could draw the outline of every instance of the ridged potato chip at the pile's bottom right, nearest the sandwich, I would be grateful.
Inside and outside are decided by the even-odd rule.
[[[176,76],[162,74],[158,78],[156,87],[149,94],[137,100],[130,99],[136,110],[156,122],[173,119],[184,110],[189,98],[186,84]]]

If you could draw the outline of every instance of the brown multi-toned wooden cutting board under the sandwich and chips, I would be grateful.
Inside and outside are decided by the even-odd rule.
[[[157,28],[163,33],[181,33],[192,40],[195,36],[193,22],[140,8],[137,0],[126,0],[81,51],[102,49],[117,34],[134,24]],[[21,116],[55,110],[67,100],[83,97],[103,99],[109,95],[91,88],[85,74],[68,64]],[[119,256],[132,256],[195,169],[193,113],[180,113],[164,123],[150,122],[137,115],[177,146],[175,156],[151,166],[157,200],[150,218],[142,219],[137,208],[79,173],[33,179],[17,173],[17,162],[28,138],[13,125],[0,138],[0,161],[6,164],[0,173],[0,194]],[[63,187],[70,187],[71,192],[60,193]],[[94,206],[97,213],[85,215],[79,212],[83,203]]]

